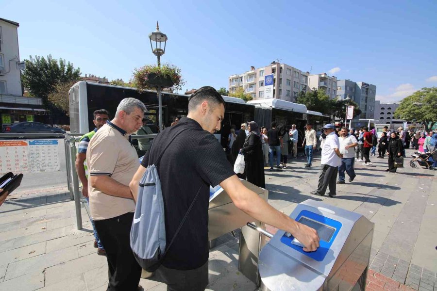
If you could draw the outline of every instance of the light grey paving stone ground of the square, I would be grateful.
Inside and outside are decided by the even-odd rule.
[[[409,150],[407,150],[409,153]],[[361,213],[375,223],[367,290],[437,291],[436,173],[406,167],[384,172],[387,159],[373,166],[356,164],[353,183],[337,185],[337,197],[310,195],[319,177],[316,156],[311,168],[304,159],[287,169],[266,170],[269,203],[287,215],[306,199]],[[408,159],[407,159],[408,160]],[[48,185],[49,187],[50,185]],[[103,291],[105,257],[93,248],[86,211],[77,230],[74,202],[66,188],[17,192],[0,208],[0,291]],[[210,251],[207,290],[256,290],[238,271],[238,235],[224,235]],[[145,290],[166,290],[163,283],[141,279]],[[410,289],[411,288],[411,289]]]

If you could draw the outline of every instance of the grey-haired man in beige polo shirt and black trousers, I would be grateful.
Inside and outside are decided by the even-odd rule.
[[[143,125],[145,111],[138,99],[121,100],[114,119],[94,134],[86,151],[89,209],[106,250],[107,291],[142,290],[141,267],[130,246],[135,202],[129,183],[139,162],[129,136]]]

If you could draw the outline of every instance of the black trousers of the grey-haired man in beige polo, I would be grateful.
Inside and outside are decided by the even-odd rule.
[[[136,262],[130,245],[133,219],[134,213],[128,212],[110,219],[94,221],[108,260],[107,291],[137,291],[138,289],[141,267]]]

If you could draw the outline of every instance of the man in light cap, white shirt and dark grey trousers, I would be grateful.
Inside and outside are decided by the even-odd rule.
[[[321,166],[322,170],[319,177],[319,186],[316,191],[312,191],[311,194],[324,196],[326,188],[329,186],[329,197],[334,198],[336,196],[336,178],[338,173],[338,166],[341,165],[341,159],[343,154],[340,153],[340,142],[336,135],[335,125],[328,123],[323,127],[323,131],[326,134],[325,142],[322,146],[321,154]]]

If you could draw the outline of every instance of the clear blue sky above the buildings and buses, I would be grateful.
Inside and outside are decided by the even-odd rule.
[[[229,75],[275,59],[377,86],[397,101],[437,86],[437,1],[10,1],[20,58],[52,54],[85,73],[127,81],[156,63],[148,34],[168,35],[163,62],[185,89],[227,87]],[[184,91],[185,91],[184,89]]]

